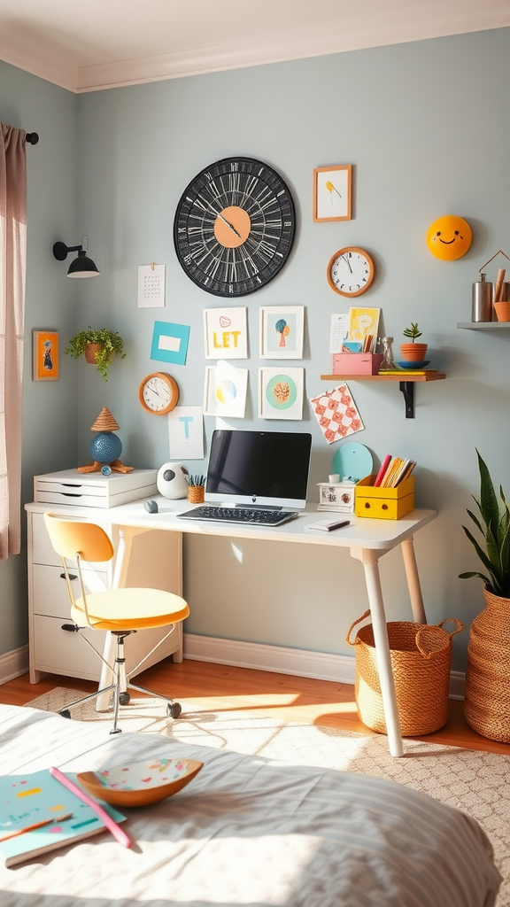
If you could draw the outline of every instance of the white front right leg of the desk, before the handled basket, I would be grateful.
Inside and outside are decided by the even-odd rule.
[[[389,656],[389,642],[387,639],[386,613],[384,610],[384,600],[382,596],[381,580],[379,576],[378,559],[385,552],[374,551],[367,548],[352,548],[350,551],[353,558],[357,558],[363,564],[365,571],[365,582],[367,583],[368,605],[370,607],[370,616],[372,627],[374,629],[374,644],[378,659],[379,681],[381,685],[381,695],[384,708],[384,717],[387,727],[387,742],[391,756],[403,756],[404,746],[402,745],[402,735],[400,733],[400,720],[397,711],[397,694],[395,692],[395,683],[391,670],[391,658]]]

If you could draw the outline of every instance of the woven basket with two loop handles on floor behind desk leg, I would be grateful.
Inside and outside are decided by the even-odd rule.
[[[356,654],[358,715],[364,725],[379,734],[386,734],[372,624],[358,629],[354,642],[350,640],[352,630],[369,614],[366,611],[354,621],[346,640],[354,646]],[[442,629],[443,624],[450,620],[456,624],[452,633]],[[387,624],[402,736],[431,734],[446,724],[452,637],[463,629],[464,624],[454,618],[441,620],[436,626],[404,620]]]

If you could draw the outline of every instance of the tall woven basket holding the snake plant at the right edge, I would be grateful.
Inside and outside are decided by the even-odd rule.
[[[484,595],[469,631],[464,715],[477,734],[510,743],[510,599]]]

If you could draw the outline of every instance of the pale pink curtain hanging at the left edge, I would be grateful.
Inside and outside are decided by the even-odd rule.
[[[25,135],[0,123],[0,561],[21,547]]]

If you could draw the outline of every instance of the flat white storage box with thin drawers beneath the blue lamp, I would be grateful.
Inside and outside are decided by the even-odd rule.
[[[132,473],[79,473],[77,469],[34,476],[34,502],[73,507],[116,507],[158,493],[157,469]]]

